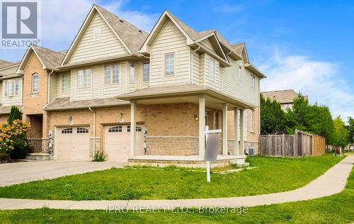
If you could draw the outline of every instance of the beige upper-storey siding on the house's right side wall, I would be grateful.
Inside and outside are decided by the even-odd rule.
[[[222,68],[222,91],[242,99],[247,103],[259,106],[259,78],[255,76],[255,89],[251,89],[251,72],[245,69],[243,60],[236,61],[229,57],[231,67]],[[242,80],[239,82],[238,69],[242,69]]]

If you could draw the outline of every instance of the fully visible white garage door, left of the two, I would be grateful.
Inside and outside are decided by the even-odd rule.
[[[58,129],[58,159],[89,160],[89,127]]]

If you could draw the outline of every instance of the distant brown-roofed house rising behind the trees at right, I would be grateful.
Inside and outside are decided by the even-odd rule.
[[[269,98],[278,101],[283,111],[292,110],[294,99],[297,98],[297,92],[294,89],[263,91],[262,95],[264,99]],[[308,97],[304,96],[304,98],[307,99]]]

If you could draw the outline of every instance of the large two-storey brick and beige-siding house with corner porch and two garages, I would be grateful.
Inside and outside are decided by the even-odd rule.
[[[47,152],[53,130],[55,159],[104,150],[130,164],[203,164],[205,126],[222,129],[217,164],[258,148],[265,76],[244,43],[169,11],[146,33],[93,5],[64,53],[30,47],[18,68],[25,119],[38,127],[29,136]]]

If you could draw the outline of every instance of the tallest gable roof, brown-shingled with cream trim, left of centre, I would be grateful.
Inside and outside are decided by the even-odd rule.
[[[139,55],[138,50],[144,43],[144,40],[147,38],[149,33],[137,28],[136,26],[132,25],[132,23],[128,23],[110,11],[103,9],[101,6],[93,4],[89,14],[86,16],[84,23],[81,25],[79,32],[76,34],[72,45],[70,45],[69,50],[67,51],[67,55],[65,55],[64,59],[62,60],[61,65],[64,65],[67,60],[69,60],[69,57],[72,55],[77,43],[84,35],[86,28],[89,27],[89,23],[96,12],[99,13],[103,18],[103,21],[107,23],[108,27],[113,31],[115,36],[117,36],[118,40],[120,40],[127,52],[132,55]]]

